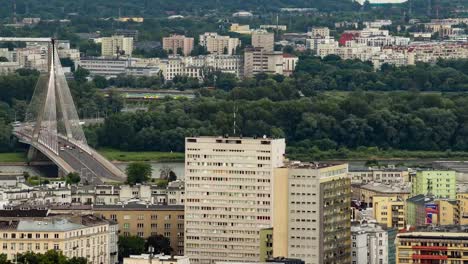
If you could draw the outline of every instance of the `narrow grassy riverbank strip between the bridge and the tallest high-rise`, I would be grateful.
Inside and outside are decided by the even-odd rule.
[[[183,161],[184,153],[142,151],[130,152],[116,149],[103,148],[98,150],[104,157],[111,161]]]

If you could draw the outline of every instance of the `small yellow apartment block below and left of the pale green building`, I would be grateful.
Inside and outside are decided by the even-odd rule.
[[[372,208],[377,223],[387,228],[405,228],[406,210],[404,199],[398,196],[374,196]]]

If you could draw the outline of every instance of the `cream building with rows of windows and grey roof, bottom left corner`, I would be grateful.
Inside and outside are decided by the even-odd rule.
[[[1,217],[0,252],[14,260],[16,254],[28,251],[45,253],[60,250],[66,257],[83,257],[90,264],[114,264],[117,263],[117,230],[114,225],[92,215]]]

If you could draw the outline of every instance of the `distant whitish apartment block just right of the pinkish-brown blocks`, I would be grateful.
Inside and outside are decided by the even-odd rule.
[[[200,46],[206,47],[206,50],[212,54],[233,55],[236,53],[237,47],[240,46],[240,40],[229,36],[220,36],[214,32],[207,32],[200,35]]]

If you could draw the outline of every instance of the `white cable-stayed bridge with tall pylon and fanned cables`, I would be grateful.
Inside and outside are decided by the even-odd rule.
[[[63,174],[77,172],[83,182],[123,181],[124,173],[86,141],[55,45],[50,38],[0,38],[1,41],[45,42],[48,71],[41,73],[23,123],[14,127],[20,142],[30,145],[28,159],[43,155]]]

